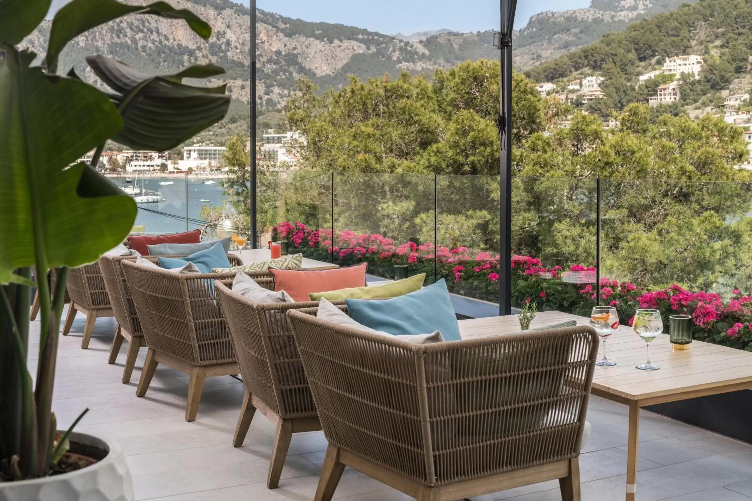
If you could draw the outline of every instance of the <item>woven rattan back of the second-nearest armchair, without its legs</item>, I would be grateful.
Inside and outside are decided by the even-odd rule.
[[[232,280],[217,282],[216,288],[248,391],[281,418],[315,416],[286,314],[318,303],[256,303],[233,292]]]

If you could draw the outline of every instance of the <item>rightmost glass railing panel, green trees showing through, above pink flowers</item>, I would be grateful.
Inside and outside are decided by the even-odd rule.
[[[602,195],[603,276],[643,291],[752,291],[752,184],[602,180]]]

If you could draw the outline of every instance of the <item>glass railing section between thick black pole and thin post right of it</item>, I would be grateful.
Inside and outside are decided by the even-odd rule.
[[[512,183],[512,306],[590,315],[596,294],[596,180]]]

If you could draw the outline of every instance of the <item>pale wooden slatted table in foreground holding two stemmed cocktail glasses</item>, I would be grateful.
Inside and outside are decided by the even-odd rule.
[[[589,318],[561,312],[541,312],[532,327]],[[520,329],[516,315],[459,321],[462,339],[487,337]],[[752,353],[693,341],[689,350],[673,351],[669,336],[650,343],[650,361],[660,370],[638,370],[647,359],[645,343],[631,327],[619,327],[606,343],[614,367],[596,367],[593,394],[629,406],[629,438],[626,466],[626,501],[634,501],[637,487],[637,445],[640,407],[675,402],[752,387]],[[599,358],[602,358],[602,349]]]

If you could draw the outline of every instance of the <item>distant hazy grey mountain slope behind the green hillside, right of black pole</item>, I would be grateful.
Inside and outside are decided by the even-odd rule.
[[[590,8],[546,11],[531,17],[514,39],[514,64],[528,69],[569,50],[620,32],[630,23],[698,0],[591,0]]]

